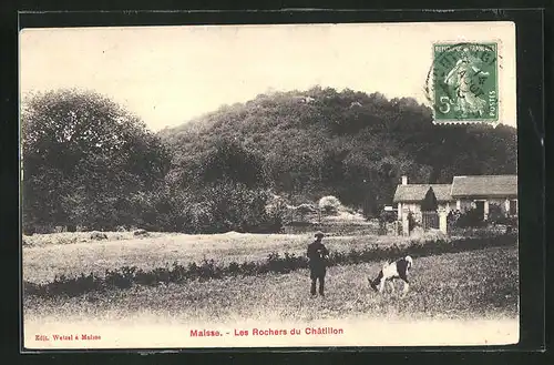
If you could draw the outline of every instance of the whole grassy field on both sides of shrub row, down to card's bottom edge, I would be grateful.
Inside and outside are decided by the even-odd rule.
[[[411,237],[413,239],[413,237]],[[310,235],[187,236],[161,234],[27,246],[27,280],[102,272],[123,265],[158,267],[204,257],[265,258],[271,251],[304,253]],[[423,239],[422,239],[423,240]],[[404,242],[406,243],[406,242]],[[398,237],[329,237],[331,250],[402,244]],[[158,286],[89,292],[75,297],[23,296],[24,344],[34,348],[483,345],[517,342],[517,247],[489,247],[419,257],[411,290],[380,295],[367,277],[378,263],[328,268],[326,297],[310,297],[307,270]],[[343,336],[236,337],[237,328],[332,326]],[[195,338],[191,329],[226,332]],[[37,335],[101,335],[98,342],[41,342]],[[414,335],[416,334],[416,335]]]

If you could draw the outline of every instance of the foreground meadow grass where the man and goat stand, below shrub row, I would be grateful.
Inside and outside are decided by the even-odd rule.
[[[24,296],[23,315],[25,321],[47,316],[61,322],[146,316],[171,317],[178,323],[517,316],[514,246],[420,257],[411,272],[411,290],[404,296],[371,291],[367,277],[378,270],[378,263],[329,267],[325,298],[310,297],[308,272],[299,270],[156,287],[135,285],[72,298]]]

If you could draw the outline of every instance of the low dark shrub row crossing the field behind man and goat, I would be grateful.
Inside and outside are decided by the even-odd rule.
[[[366,262],[380,262],[396,260],[403,255],[421,257],[444,253],[456,253],[463,251],[480,250],[491,246],[507,246],[516,243],[515,234],[505,234],[494,237],[461,239],[451,242],[438,240],[432,242],[411,242],[406,245],[392,245],[380,247],[377,244],[363,250],[350,250],[349,252],[331,252],[328,260],[329,266],[348,265]],[[96,274],[76,277],[57,276],[54,281],[47,284],[34,284],[24,282],[23,292],[27,295],[38,296],[78,296],[93,291],[105,291],[110,288],[129,288],[136,285],[158,285],[168,283],[183,283],[186,281],[207,281],[229,276],[253,276],[267,273],[285,274],[300,268],[307,268],[306,257],[295,254],[270,253],[261,262],[232,262],[227,265],[216,263],[214,260],[204,260],[199,265],[191,263],[187,266],[177,262],[172,266],[157,267],[144,271],[137,267],[124,266],[114,271],[106,271],[104,276]]]

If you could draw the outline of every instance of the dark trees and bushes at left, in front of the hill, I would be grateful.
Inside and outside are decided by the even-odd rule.
[[[186,174],[142,121],[107,98],[60,90],[25,100],[24,224],[89,230],[141,226],[189,233],[274,232],[264,160],[217,140]],[[31,232],[29,232],[31,231]]]

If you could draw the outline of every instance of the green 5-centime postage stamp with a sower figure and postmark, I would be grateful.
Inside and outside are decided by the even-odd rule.
[[[496,43],[435,43],[432,75],[434,123],[499,122]]]

